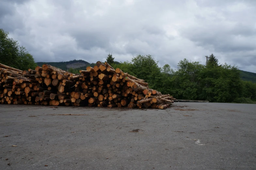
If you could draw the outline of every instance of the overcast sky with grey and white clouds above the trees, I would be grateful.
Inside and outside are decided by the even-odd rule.
[[[151,54],[256,73],[256,0],[0,0],[0,28],[36,62],[115,61]]]

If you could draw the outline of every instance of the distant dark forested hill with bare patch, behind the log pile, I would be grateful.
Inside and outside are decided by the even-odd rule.
[[[43,64],[49,64],[52,66],[55,66],[57,68],[60,68],[62,70],[68,70],[70,68],[76,69],[79,68],[81,70],[86,69],[88,66],[94,66],[93,63],[88,63],[84,60],[70,60],[68,62],[38,62],[37,65],[42,66]]]

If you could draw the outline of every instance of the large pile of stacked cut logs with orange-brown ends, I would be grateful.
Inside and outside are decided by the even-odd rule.
[[[0,103],[165,109],[175,100],[108,63],[72,74],[43,64],[18,70],[0,64]]]

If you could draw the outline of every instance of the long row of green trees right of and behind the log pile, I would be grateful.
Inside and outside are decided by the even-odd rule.
[[[158,66],[152,55],[137,55],[131,61],[115,64],[112,54],[107,62],[114,68],[144,79],[149,87],[177,99],[208,100],[209,102],[255,103],[256,83],[243,81],[237,66],[218,64],[211,54],[206,64],[187,59],[173,70],[169,64]]]

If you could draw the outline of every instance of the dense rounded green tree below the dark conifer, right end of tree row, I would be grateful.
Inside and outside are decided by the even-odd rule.
[[[241,79],[236,66],[222,64],[216,67],[205,67],[200,72],[201,100],[210,102],[232,102],[239,97]]]

